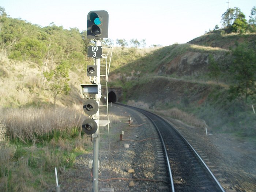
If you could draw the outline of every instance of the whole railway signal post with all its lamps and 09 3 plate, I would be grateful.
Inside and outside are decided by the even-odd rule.
[[[101,39],[108,38],[108,12],[90,11],[87,15],[87,39],[94,39],[95,46],[88,46],[87,56],[94,58],[94,65],[87,65],[87,76],[92,84],[81,84],[80,93],[85,102],[84,112],[89,117],[83,121],[82,130],[93,138],[93,190],[98,192],[99,170],[99,101],[101,99],[100,70],[102,58]]]

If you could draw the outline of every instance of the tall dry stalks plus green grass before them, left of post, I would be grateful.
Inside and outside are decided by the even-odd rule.
[[[82,114],[71,108],[0,110],[0,191],[49,191],[58,172],[92,151],[81,133]],[[41,131],[40,131],[41,129]]]

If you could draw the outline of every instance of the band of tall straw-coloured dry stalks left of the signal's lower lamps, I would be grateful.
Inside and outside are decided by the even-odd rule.
[[[1,114],[10,139],[37,143],[50,140],[50,135],[72,134],[84,119],[81,113],[69,108],[56,109],[5,109]]]

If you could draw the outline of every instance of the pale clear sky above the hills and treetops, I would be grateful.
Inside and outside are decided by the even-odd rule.
[[[228,3],[229,2],[229,3]],[[146,39],[148,46],[186,43],[222,27],[221,15],[239,7],[249,19],[255,0],[1,0],[11,18],[21,18],[42,27],[54,23],[64,29],[87,30],[87,14],[109,14],[109,38]]]

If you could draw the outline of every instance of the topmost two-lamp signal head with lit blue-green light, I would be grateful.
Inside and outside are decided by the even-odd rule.
[[[108,12],[90,11],[87,15],[87,39],[108,38],[108,25]]]

